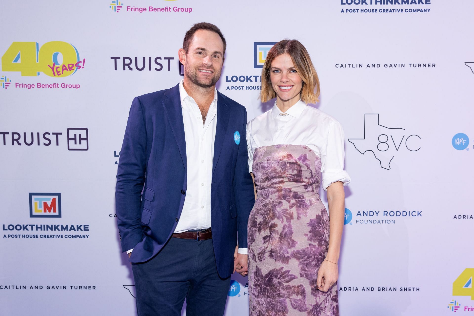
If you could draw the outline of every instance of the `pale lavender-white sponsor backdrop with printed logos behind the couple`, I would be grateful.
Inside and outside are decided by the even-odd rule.
[[[132,99],[219,26],[218,89],[251,119],[273,43],[300,40],[346,134],[344,316],[474,315],[474,2],[2,1],[1,315],[135,315],[114,190]],[[325,199],[325,194],[322,195]],[[233,276],[226,316],[248,313]],[[184,311],[183,311],[184,314]]]

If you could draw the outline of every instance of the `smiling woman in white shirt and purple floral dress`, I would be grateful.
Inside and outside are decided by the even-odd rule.
[[[267,54],[260,98],[273,108],[247,124],[257,200],[248,222],[250,315],[339,315],[344,226],[344,134],[308,106],[319,79],[306,48],[283,40]],[[321,181],[322,173],[322,181]],[[319,199],[328,191],[329,217]],[[330,218],[330,220],[329,220]]]

